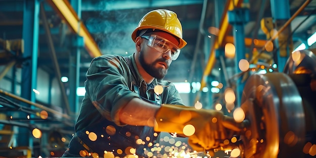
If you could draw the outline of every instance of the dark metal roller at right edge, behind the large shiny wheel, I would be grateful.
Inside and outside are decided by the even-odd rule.
[[[316,49],[293,51],[283,72],[293,80],[303,101],[306,121],[304,157],[315,156],[315,149],[310,150],[308,144],[316,144]]]

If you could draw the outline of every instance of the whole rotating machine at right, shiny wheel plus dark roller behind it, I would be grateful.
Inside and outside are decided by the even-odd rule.
[[[241,157],[316,155],[316,49],[292,52],[284,72],[251,75],[241,108]]]

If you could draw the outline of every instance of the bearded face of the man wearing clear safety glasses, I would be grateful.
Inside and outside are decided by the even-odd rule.
[[[168,33],[155,32],[154,34],[162,36],[170,41],[177,41],[175,37]],[[166,53],[161,53],[155,48],[148,46],[147,42],[147,39],[142,38],[139,62],[150,76],[156,79],[163,79],[167,75],[169,66],[172,62],[170,59],[171,51],[169,50]]]

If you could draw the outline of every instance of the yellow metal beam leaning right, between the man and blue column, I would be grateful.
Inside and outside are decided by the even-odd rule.
[[[215,40],[215,43],[212,47],[212,49],[210,50],[210,56],[208,58],[208,62],[205,66],[204,72],[203,72],[203,76],[201,79],[201,88],[200,91],[202,90],[203,87],[206,86],[206,77],[212,72],[212,69],[214,67],[214,64],[216,62],[215,59],[215,50],[217,48],[219,48],[220,46],[223,46],[223,43],[225,38],[228,33],[231,31],[232,26],[228,23],[228,11],[233,10],[234,7],[235,8],[239,8],[241,7],[243,0],[228,0],[225,6],[225,9],[223,11],[223,15],[222,15],[222,19],[221,19],[221,24],[220,24],[220,31],[218,34],[218,37]],[[198,95],[199,96],[199,95]],[[196,100],[198,100],[199,98],[197,98]]]

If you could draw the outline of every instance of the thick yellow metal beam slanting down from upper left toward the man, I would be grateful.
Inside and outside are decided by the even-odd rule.
[[[101,51],[88,32],[87,28],[78,18],[75,10],[71,7],[67,0],[51,0],[46,1],[55,11],[67,22],[69,27],[84,39],[85,48],[89,55],[94,58],[101,56]]]

